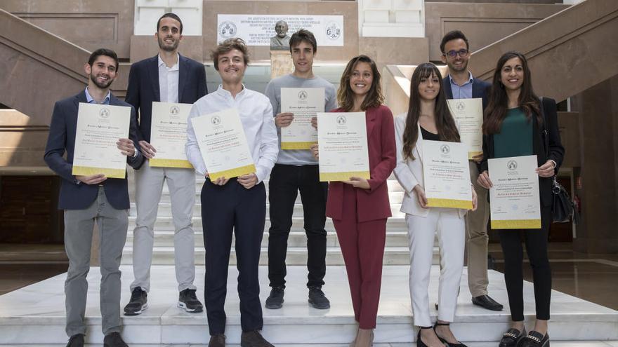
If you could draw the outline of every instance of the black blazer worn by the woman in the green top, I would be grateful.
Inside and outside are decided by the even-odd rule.
[[[532,117],[532,150],[537,155],[537,163],[543,165],[551,159],[555,161],[554,175],[558,173],[560,165],[565,157],[565,148],[560,142],[560,131],[558,130],[558,112],[555,107],[555,100],[548,97],[543,98],[544,123],[539,126],[537,117]],[[547,145],[546,145],[547,144]],[[494,158],[494,135],[483,136],[483,160],[481,171],[487,170],[487,159]],[[541,193],[541,203],[544,206],[551,206],[551,177],[539,176],[539,190]]]

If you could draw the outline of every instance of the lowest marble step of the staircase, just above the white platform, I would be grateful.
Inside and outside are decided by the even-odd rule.
[[[204,265],[204,247],[195,247],[195,265]],[[123,265],[133,264],[133,247],[127,243],[122,250]],[[173,265],[174,264],[174,249],[173,247],[154,247],[152,250],[153,265]],[[233,247],[230,250],[230,264],[236,264],[236,251]],[[286,264],[288,265],[305,265],[307,264],[307,248],[306,247],[289,247],[287,249]],[[341,248],[327,247],[326,251],[327,265],[343,265],[343,256]],[[386,247],[384,249],[384,265],[408,265],[410,264],[410,253],[408,247]],[[438,247],[433,247],[432,264],[440,264],[440,251]],[[261,247],[260,265],[268,265],[268,247]]]

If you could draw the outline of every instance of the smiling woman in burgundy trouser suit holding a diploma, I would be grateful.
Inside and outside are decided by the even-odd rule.
[[[382,104],[380,73],[367,55],[354,57],[341,76],[334,112],[365,112],[370,179],[330,182],[326,215],[333,219],[348,271],[355,347],[372,346],[380,299],[386,219],[390,217],[386,179],[396,165],[393,114]],[[312,147],[317,157],[317,145]]]

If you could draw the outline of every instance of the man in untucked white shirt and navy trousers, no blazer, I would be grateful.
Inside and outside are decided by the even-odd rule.
[[[271,347],[272,344],[258,332],[263,326],[258,264],[266,218],[266,190],[262,181],[268,177],[277,161],[277,129],[268,97],[246,89],[242,84],[249,62],[244,41],[227,39],[213,50],[211,56],[215,69],[221,75],[222,84],[216,92],[193,104],[187,130],[187,157],[195,170],[206,177],[201,200],[206,248],[204,303],[211,335],[208,346],[225,346],[223,306],[233,232],[236,236],[235,251],[239,271],[241,346]],[[219,177],[211,181],[191,119],[230,108],[238,111],[256,172],[239,177]]]

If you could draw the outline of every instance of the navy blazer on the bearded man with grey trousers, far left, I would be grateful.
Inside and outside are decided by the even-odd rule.
[[[98,193],[97,184],[76,184],[75,177],[71,173],[79,102],[88,102],[85,91],[56,102],[51,116],[51,125],[49,125],[44,160],[53,172],[63,178],[62,186],[60,186],[60,198],[58,198],[60,210],[87,208],[96,199]],[[114,95],[110,95],[110,105],[131,107],[130,104],[119,100]],[[133,107],[131,107],[129,139],[137,142],[137,117]],[[136,151],[138,151],[137,148],[138,146],[136,146]],[[67,152],[66,159],[63,158],[65,151]],[[126,162],[135,169],[140,168],[143,161],[144,157],[140,151],[138,151],[136,158],[126,158]],[[129,190],[126,177],[124,179],[108,178],[102,184],[105,189],[105,196],[112,207],[117,210],[129,208]]]

